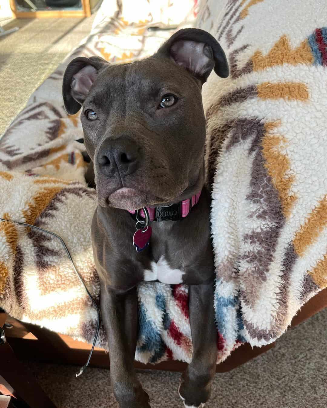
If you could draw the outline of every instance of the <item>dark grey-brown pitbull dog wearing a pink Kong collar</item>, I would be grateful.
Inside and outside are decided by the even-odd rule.
[[[144,60],[110,65],[78,57],[65,71],[65,108],[72,115],[82,105],[94,165],[92,242],[121,408],[150,407],[134,371],[142,281],[189,285],[193,357],[179,394],[189,407],[203,406],[210,395],[217,332],[201,89],[213,69],[228,76],[218,42],[206,31],[183,29]]]

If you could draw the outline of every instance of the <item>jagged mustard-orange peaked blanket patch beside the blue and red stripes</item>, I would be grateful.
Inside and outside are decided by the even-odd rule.
[[[252,56],[253,71],[273,67],[274,65],[282,64],[313,64],[314,56],[305,39],[301,44],[292,49],[286,35],[283,35],[272,47],[267,55],[263,55],[261,51],[256,51]]]

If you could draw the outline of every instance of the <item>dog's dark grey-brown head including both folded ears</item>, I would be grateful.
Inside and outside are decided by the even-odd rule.
[[[101,206],[134,209],[184,200],[204,184],[201,88],[224,51],[206,31],[177,31],[149,58],[112,65],[78,57],[63,79],[69,114],[83,106],[84,143]]]

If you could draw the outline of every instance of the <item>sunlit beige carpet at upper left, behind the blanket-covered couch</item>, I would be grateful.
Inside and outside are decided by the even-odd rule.
[[[13,20],[0,37],[0,137],[25,106],[29,95],[89,33],[91,18]]]

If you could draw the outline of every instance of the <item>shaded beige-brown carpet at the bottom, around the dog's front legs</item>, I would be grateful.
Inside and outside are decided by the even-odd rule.
[[[117,407],[109,371],[28,362],[58,408]],[[183,407],[179,373],[139,374],[152,408]],[[273,350],[235,370],[217,374],[206,408],[326,408],[327,308],[282,336]]]

